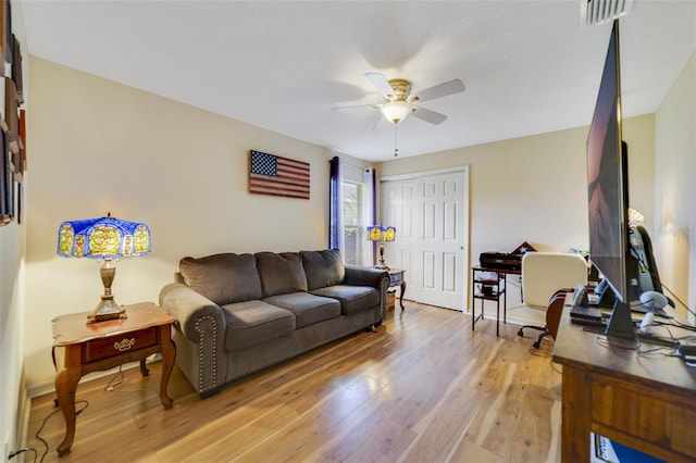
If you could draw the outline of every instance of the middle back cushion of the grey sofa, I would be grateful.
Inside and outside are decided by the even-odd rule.
[[[263,297],[307,291],[302,259],[297,252],[257,252]]]

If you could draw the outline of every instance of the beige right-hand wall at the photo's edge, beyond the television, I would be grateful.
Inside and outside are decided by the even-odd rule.
[[[696,302],[696,53],[657,111],[656,140],[656,259],[662,284],[693,309]]]

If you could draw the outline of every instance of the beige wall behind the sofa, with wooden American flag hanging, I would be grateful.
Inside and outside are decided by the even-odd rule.
[[[121,304],[157,301],[185,255],[327,246],[327,149],[36,58],[28,85],[29,387],[53,378],[50,320],[102,293],[98,261],[55,254],[62,221],[150,226],[152,253],[116,264]],[[310,162],[311,199],[249,195],[249,149]]]

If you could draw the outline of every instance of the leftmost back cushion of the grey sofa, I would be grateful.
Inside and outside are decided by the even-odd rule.
[[[261,299],[261,280],[251,254],[184,258],[178,263],[186,286],[217,305]]]

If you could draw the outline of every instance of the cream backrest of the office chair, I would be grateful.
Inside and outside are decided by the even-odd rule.
[[[587,262],[580,254],[527,252],[522,258],[524,304],[546,310],[557,290],[587,285]]]

